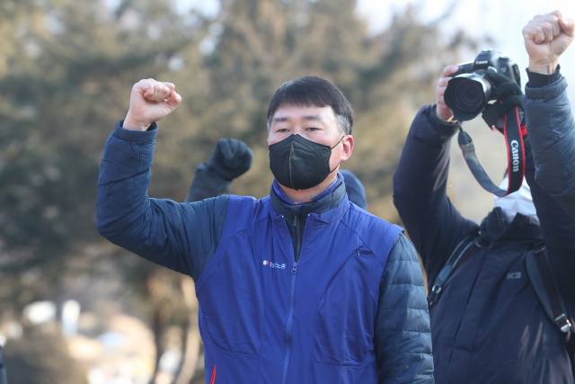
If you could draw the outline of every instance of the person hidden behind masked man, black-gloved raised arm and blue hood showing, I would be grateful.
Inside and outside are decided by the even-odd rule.
[[[252,149],[235,138],[220,139],[208,163],[201,163],[190,183],[186,202],[201,201],[230,192],[234,178],[252,166]],[[366,191],[359,179],[349,171],[341,170],[349,201],[362,210],[367,209]]]

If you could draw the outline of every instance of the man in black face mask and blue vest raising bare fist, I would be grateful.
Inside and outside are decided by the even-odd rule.
[[[150,199],[155,121],[181,102],[153,79],[132,88],[98,181],[98,229],[114,244],[190,274],[206,382],[431,383],[429,315],[402,228],[345,194],[353,112],[319,77],[282,85],[268,110],[261,200]]]

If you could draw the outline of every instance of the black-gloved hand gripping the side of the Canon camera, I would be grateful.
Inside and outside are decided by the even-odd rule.
[[[482,113],[483,120],[490,128],[497,128],[503,133],[503,121],[505,115],[513,108],[519,108],[519,120],[524,125],[523,92],[521,87],[508,76],[499,72],[487,71],[484,75],[494,85],[491,98],[495,103],[488,104]]]

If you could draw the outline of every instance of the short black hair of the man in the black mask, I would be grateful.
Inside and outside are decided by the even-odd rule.
[[[333,113],[346,135],[353,127],[353,109],[337,86],[317,76],[302,76],[284,83],[273,95],[268,107],[268,129],[271,119],[280,107],[286,105],[306,107],[332,107]]]

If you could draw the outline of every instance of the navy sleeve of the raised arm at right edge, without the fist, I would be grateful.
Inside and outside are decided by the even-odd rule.
[[[564,77],[541,88],[527,84],[523,104],[535,181],[575,219],[575,121],[566,88]]]

